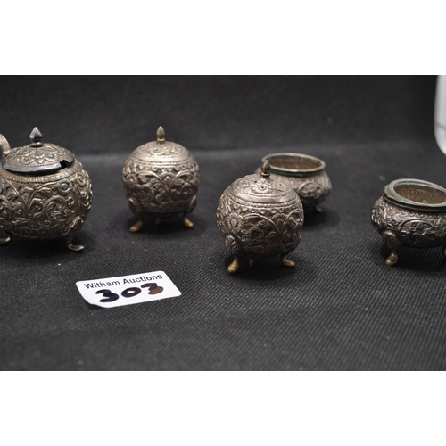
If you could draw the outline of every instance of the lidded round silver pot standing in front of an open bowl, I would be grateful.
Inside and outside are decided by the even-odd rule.
[[[217,225],[234,260],[227,268],[235,273],[240,257],[256,259],[280,255],[285,267],[294,262],[286,259],[301,241],[303,208],[299,196],[282,178],[269,174],[264,161],[260,174],[248,175],[232,183],[219,199]]]

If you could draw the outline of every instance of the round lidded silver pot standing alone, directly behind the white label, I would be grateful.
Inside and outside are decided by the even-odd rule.
[[[122,170],[128,206],[138,219],[130,232],[139,231],[145,217],[160,224],[178,213],[183,213],[186,227],[194,227],[186,216],[196,205],[198,164],[185,147],[165,140],[162,127],[156,137],[156,141],[137,147]]]

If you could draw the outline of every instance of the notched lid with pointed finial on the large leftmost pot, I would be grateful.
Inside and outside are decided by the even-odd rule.
[[[74,155],[59,145],[42,143],[42,134],[33,128],[31,144],[12,149],[4,156],[3,167],[6,170],[31,175],[45,175],[63,169],[74,161]]]

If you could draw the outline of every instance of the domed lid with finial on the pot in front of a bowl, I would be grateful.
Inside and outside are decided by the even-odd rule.
[[[293,187],[286,181],[271,178],[270,169],[269,161],[265,160],[261,165],[260,174],[237,179],[228,187],[229,192],[246,202],[279,203],[295,199],[297,194]]]

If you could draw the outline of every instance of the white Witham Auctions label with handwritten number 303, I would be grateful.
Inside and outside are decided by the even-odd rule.
[[[181,295],[164,271],[108,277],[76,282],[79,293],[92,305],[103,308],[120,307],[147,301],[158,301]]]

